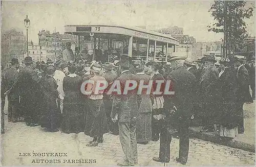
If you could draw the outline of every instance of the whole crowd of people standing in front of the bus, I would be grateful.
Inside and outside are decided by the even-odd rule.
[[[201,119],[201,132],[216,131],[224,139],[244,133],[243,104],[255,98],[255,63],[238,57],[222,58],[217,68],[215,57],[206,56],[192,62],[172,57],[161,62],[133,62],[121,56],[112,62],[74,61],[68,51],[62,60],[45,63],[26,57],[13,58],[11,67],[2,68],[2,133],[4,131],[5,96],[8,97],[8,121],[41,126],[48,132],[79,133],[91,136],[88,147],[102,143],[103,134],[120,136],[125,159],[119,165],[138,163],[137,144],[160,139],[159,156],[154,161],[169,162],[170,142],[178,134],[179,157],[186,164],[189,149],[188,127],[191,120]],[[65,56],[64,56],[65,55]],[[82,94],[84,81],[91,80]],[[95,91],[97,81],[108,87]],[[150,94],[107,94],[119,80],[153,81]],[[154,94],[170,81],[174,95]],[[249,92],[252,89],[252,97]]]

